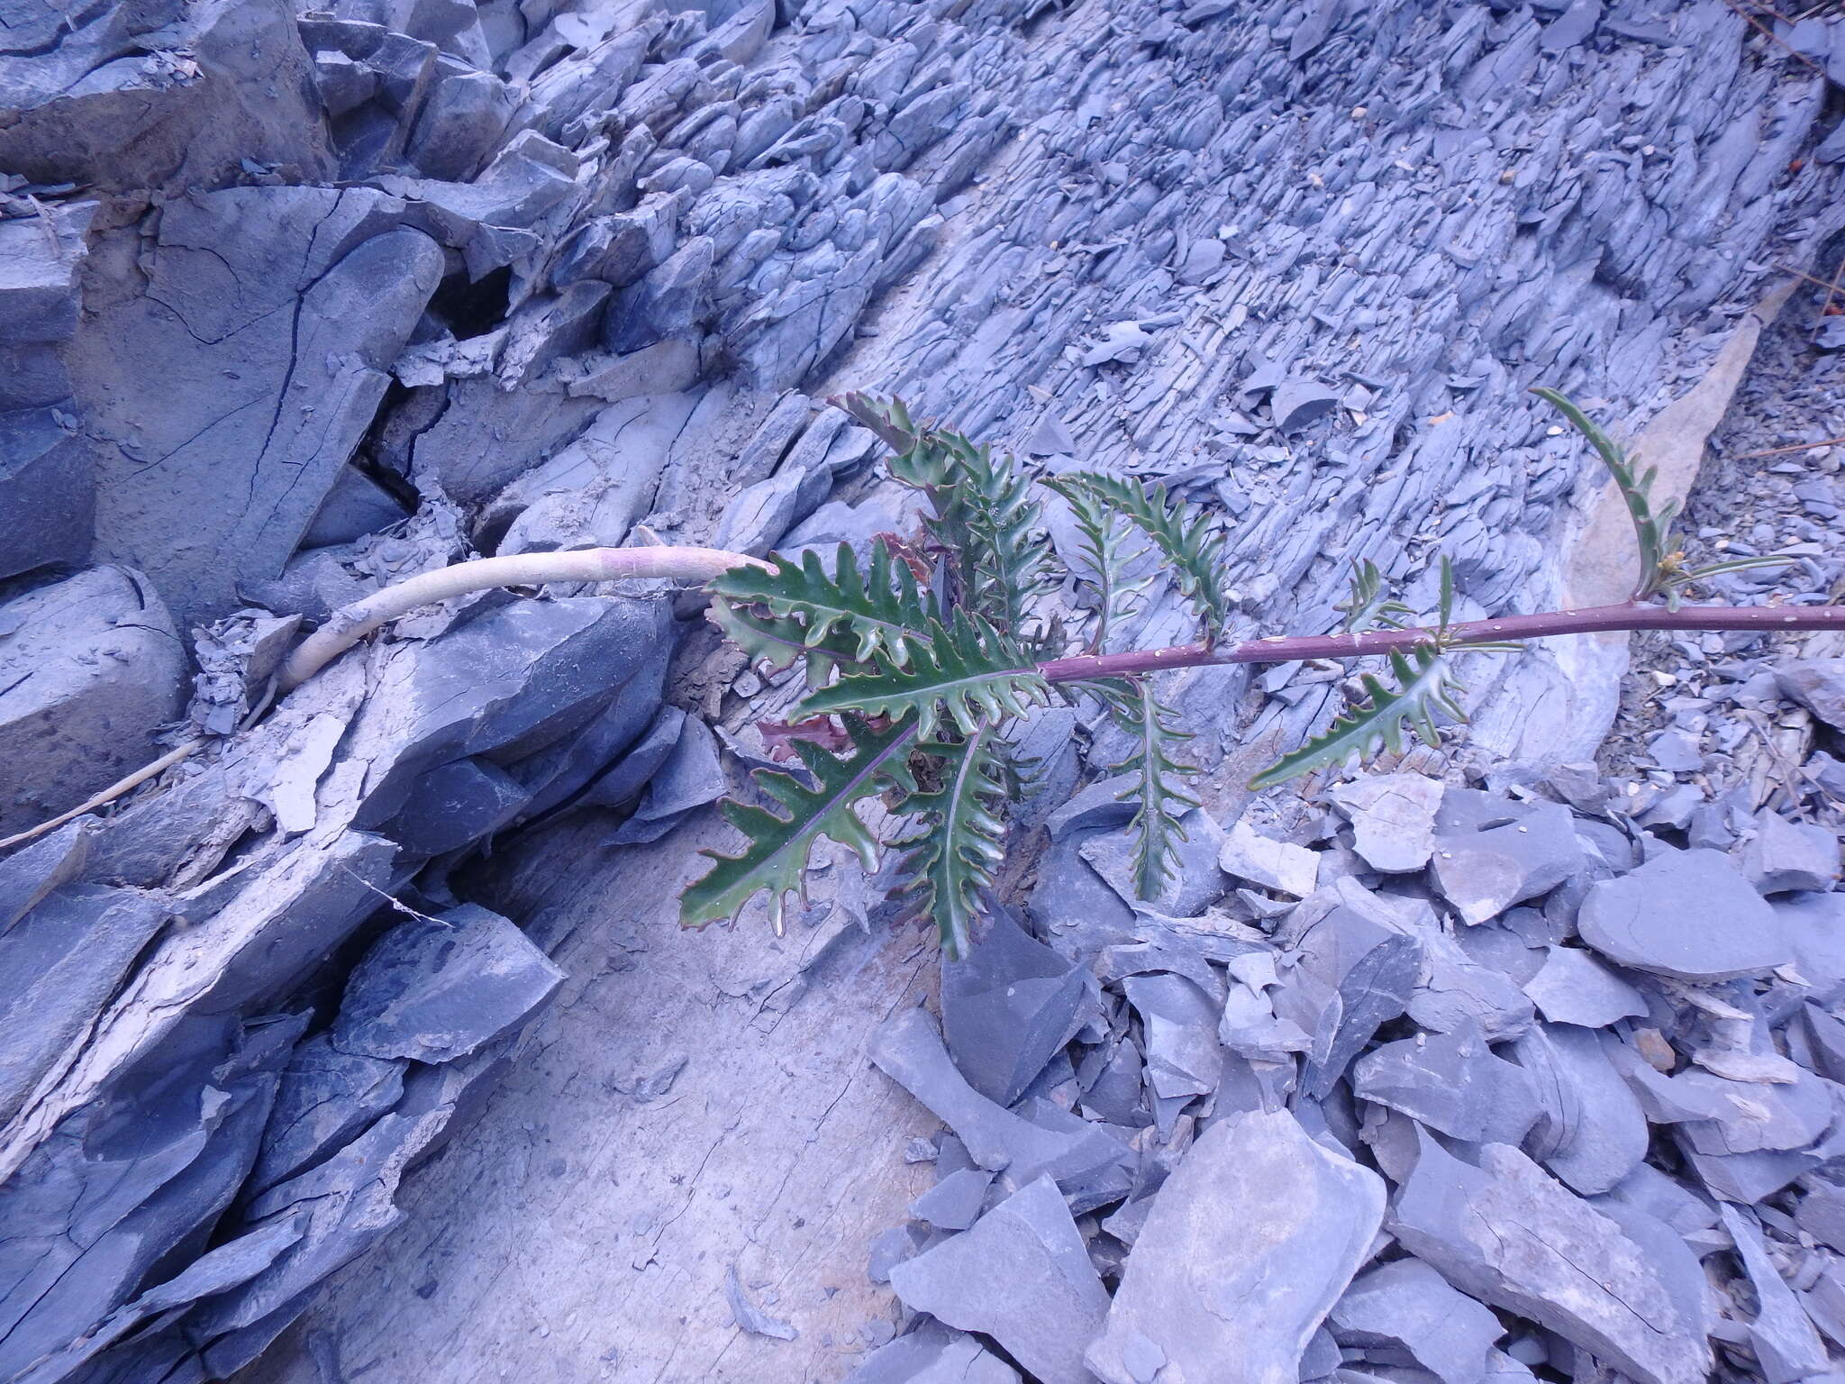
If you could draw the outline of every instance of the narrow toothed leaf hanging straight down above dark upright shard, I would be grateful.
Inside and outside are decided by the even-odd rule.
[[[913,814],[917,825],[893,841],[906,851],[908,875],[897,893],[908,897],[917,913],[934,919],[943,956],[952,961],[967,956],[982,895],[993,888],[1002,856],[1006,746],[994,723],[982,722],[972,734],[930,740],[921,749],[939,757],[939,786],[902,799],[900,810]]]

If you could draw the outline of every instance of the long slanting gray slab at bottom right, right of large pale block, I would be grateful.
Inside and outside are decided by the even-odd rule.
[[[1688,1316],[1642,1246],[1506,1144],[1472,1166],[1421,1137],[1386,1229],[1470,1297],[1537,1321],[1642,1384],[1710,1369]]]

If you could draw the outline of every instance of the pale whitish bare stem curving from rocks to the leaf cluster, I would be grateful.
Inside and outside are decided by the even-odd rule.
[[[524,552],[509,557],[476,557],[434,572],[406,578],[363,600],[341,605],[288,655],[277,679],[277,694],[286,694],[314,677],[386,620],[434,605],[450,596],[465,596],[493,587],[541,587],[548,581],[620,581],[625,578],[666,578],[670,581],[710,581],[732,567],[769,565],[721,548],[577,548],[572,552]]]

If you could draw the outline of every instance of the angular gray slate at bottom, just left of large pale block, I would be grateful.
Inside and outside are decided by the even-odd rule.
[[[993,1336],[1044,1384],[1087,1384],[1083,1347],[1109,1294],[1050,1177],[1037,1177],[974,1229],[891,1268],[906,1306]]]

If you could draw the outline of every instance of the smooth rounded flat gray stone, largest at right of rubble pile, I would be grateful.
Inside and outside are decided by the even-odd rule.
[[[1766,974],[1793,960],[1775,910],[1716,851],[1668,851],[1592,884],[1576,926],[1611,961],[1679,980]]]

